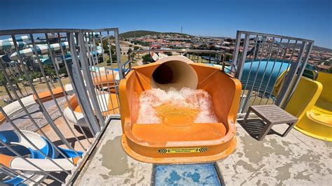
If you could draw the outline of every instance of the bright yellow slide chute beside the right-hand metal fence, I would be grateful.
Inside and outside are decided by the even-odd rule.
[[[298,117],[298,131],[332,141],[332,74],[319,72],[317,81],[302,77],[285,110]]]

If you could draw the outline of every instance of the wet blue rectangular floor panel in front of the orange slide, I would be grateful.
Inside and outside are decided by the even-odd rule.
[[[216,163],[153,165],[151,185],[225,185]]]

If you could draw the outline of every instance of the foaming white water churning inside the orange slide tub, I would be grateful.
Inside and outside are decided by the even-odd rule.
[[[192,90],[183,87],[180,91],[170,88],[168,91],[160,89],[146,90],[139,96],[139,116],[137,123],[153,124],[160,123],[156,108],[163,104],[171,105],[174,108],[186,108],[184,110],[196,110],[195,123],[218,122],[214,113],[212,99],[205,90]]]

